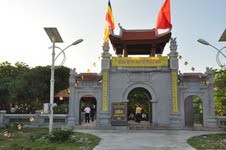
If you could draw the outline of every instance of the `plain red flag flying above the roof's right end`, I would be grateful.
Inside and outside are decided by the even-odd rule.
[[[170,19],[170,0],[165,0],[157,18],[156,29],[172,29]]]

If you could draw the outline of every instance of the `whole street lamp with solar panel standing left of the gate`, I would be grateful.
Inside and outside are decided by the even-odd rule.
[[[64,55],[64,59],[61,62],[60,66],[63,65],[63,63],[65,62],[66,59],[66,55],[64,53],[64,51],[66,49],[68,49],[69,47],[73,46],[73,45],[77,45],[79,43],[81,43],[83,41],[83,39],[79,39],[75,42],[73,42],[71,45],[67,46],[64,49],[61,49],[57,46],[55,46],[55,43],[62,43],[63,40],[57,30],[57,28],[44,28],[44,30],[46,31],[48,37],[50,38],[51,42],[53,43],[52,46],[52,65],[51,65],[51,79],[50,79],[50,114],[49,114],[49,134],[52,133],[53,130],[53,107],[54,107],[54,72],[55,72],[55,61],[57,60],[57,58],[63,53]],[[58,48],[61,50],[61,52],[55,57],[55,48]]]

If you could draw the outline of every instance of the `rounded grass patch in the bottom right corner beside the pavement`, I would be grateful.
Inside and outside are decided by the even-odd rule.
[[[226,149],[226,134],[208,134],[191,137],[188,144],[197,150]]]

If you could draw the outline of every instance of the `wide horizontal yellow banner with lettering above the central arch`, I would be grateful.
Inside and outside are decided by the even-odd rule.
[[[167,67],[168,57],[112,57],[112,66],[118,67]]]

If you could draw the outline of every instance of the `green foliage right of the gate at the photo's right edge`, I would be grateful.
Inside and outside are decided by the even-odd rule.
[[[214,74],[214,103],[218,116],[226,115],[226,70],[213,70]]]

